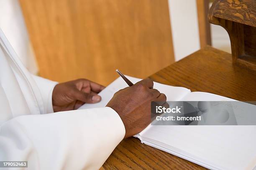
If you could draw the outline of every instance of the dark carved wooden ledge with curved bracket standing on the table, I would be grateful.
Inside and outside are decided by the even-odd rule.
[[[233,63],[256,70],[256,1],[216,0],[208,18],[227,30]]]

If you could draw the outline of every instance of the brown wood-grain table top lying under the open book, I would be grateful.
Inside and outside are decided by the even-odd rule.
[[[162,84],[205,91],[240,101],[256,101],[256,71],[232,64],[231,54],[210,46],[150,76]],[[205,169],[192,162],[142,144],[123,140],[103,167],[108,169]]]

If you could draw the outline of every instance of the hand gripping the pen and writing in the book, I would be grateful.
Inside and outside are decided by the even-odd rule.
[[[165,94],[153,89],[153,81],[144,79],[116,92],[108,102],[125,126],[125,138],[138,134],[151,123],[151,101],[166,102]]]

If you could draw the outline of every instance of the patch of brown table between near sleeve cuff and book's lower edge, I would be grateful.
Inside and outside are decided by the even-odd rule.
[[[107,170],[205,169],[177,156],[142,144],[134,137],[120,142],[103,167]]]

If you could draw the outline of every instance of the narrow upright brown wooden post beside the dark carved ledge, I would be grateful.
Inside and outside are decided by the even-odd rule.
[[[200,47],[211,45],[211,30],[208,20],[209,0],[197,0],[197,18],[200,37]]]

